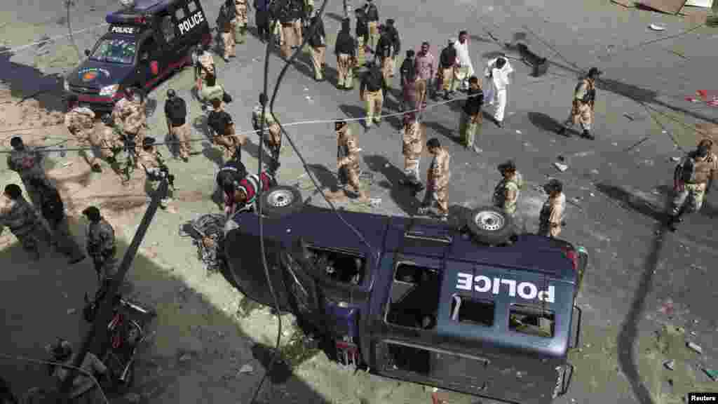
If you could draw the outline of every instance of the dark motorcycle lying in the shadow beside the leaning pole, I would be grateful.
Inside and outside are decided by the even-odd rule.
[[[103,288],[98,290],[94,300],[90,300],[85,293],[83,318],[88,323],[95,320],[98,303],[104,295],[106,290]],[[114,296],[113,314],[107,325],[108,339],[101,344],[98,357],[108,368],[116,392],[123,392],[131,387],[137,348],[146,338],[144,327],[155,316],[157,314],[149,308],[131,302],[121,295]]]

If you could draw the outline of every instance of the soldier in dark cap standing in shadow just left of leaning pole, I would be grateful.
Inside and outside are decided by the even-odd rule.
[[[85,249],[95,265],[100,288],[107,288],[117,270],[115,229],[102,217],[97,206],[85,208],[83,215],[90,221]]]

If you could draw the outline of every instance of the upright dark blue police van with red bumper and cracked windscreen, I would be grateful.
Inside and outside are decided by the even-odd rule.
[[[135,0],[107,14],[108,32],[65,78],[65,92],[95,110],[112,109],[123,88],[149,92],[192,65],[197,45],[212,42],[200,0]]]

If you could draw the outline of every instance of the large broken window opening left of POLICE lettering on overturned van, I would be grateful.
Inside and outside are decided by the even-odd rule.
[[[434,329],[440,286],[437,270],[400,263],[394,272],[386,322],[414,329]]]

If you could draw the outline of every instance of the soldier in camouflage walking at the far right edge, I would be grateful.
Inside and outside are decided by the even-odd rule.
[[[718,157],[712,152],[713,141],[702,139],[698,147],[676,166],[673,174],[673,209],[668,227],[676,231],[686,212],[699,211],[718,172]]]

